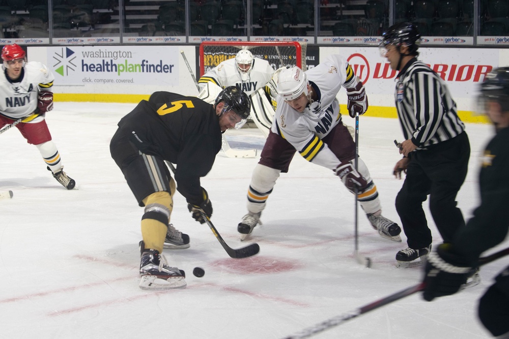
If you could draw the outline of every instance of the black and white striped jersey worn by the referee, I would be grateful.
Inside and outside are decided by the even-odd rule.
[[[413,58],[397,78],[395,103],[405,140],[417,149],[452,139],[465,130],[445,82]]]

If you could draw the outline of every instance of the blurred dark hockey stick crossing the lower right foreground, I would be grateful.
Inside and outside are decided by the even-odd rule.
[[[509,254],[509,248],[506,248],[505,250],[498,251],[492,255],[479,258],[479,266],[488,264],[488,263],[495,261],[497,259],[500,259],[508,254]],[[401,290],[399,292],[396,292],[394,294],[386,296],[385,298],[379,299],[377,301],[374,301],[372,303],[369,303],[367,305],[359,307],[358,309],[352,310],[352,311],[345,313],[343,315],[330,318],[324,322],[316,324],[315,326],[303,329],[302,331],[295,333],[293,335],[287,336],[284,339],[307,338],[307,337],[312,336],[316,333],[325,331],[331,327],[341,325],[344,322],[346,322],[347,320],[356,318],[356,317],[360,316],[361,314],[376,310],[379,307],[382,307],[386,304],[403,299],[404,297],[408,297],[409,295],[412,295],[415,292],[422,291],[425,287],[426,287],[425,283],[420,283],[420,284],[411,286],[409,288],[406,288],[404,290]]]

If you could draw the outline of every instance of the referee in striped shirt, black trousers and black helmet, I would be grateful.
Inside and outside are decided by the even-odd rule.
[[[400,147],[403,159],[394,175],[403,186],[396,209],[407,236],[408,248],[396,254],[397,266],[422,263],[431,251],[432,236],[422,202],[430,196],[430,210],[444,242],[465,226],[456,195],[467,174],[470,144],[456,103],[444,81],[425,63],[417,60],[420,34],[416,26],[400,22],[382,35],[380,54],[398,71],[395,104],[405,138]]]

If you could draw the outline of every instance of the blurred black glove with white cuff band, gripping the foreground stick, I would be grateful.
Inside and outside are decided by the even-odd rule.
[[[454,253],[450,243],[443,243],[429,255],[422,297],[431,301],[436,297],[455,294],[474,271],[464,258]]]

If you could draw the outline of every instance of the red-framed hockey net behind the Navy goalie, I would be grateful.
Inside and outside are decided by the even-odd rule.
[[[305,70],[306,46],[294,41],[204,41],[200,44],[200,76],[222,61],[234,58],[241,49],[248,49],[254,57],[269,61],[274,70],[285,66]]]

